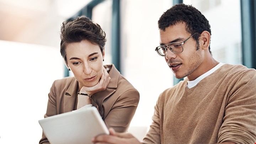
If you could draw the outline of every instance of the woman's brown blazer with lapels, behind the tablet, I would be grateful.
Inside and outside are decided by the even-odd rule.
[[[126,132],[139,103],[139,92],[112,65],[108,74],[111,81],[107,89],[92,95],[95,106],[108,128],[116,132]],[[78,81],[74,77],[55,80],[48,95],[47,112],[44,117],[76,110]],[[39,141],[49,143],[45,135]]]

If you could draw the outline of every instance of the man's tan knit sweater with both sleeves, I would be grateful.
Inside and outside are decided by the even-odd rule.
[[[256,70],[224,64],[196,86],[165,90],[143,143],[256,143]]]

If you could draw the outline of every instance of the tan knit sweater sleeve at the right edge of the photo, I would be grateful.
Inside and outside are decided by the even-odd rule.
[[[246,71],[237,76],[230,90],[218,143],[256,142],[256,72]]]

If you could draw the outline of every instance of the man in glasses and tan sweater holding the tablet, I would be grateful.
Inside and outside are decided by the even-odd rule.
[[[212,57],[209,22],[193,6],[173,6],[158,26],[156,52],[185,79],[160,94],[143,143],[255,143],[256,70]],[[139,143],[131,134],[110,133],[92,141]]]

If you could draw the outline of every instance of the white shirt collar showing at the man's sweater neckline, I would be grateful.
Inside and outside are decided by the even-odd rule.
[[[223,63],[219,63],[216,66],[214,66],[212,69],[210,69],[209,71],[207,71],[206,73],[202,74],[201,76],[199,76],[198,78],[196,78],[195,80],[192,81],[187,81],[187,87],[189,89],[191,89],[192,87],[196,86],[198,84],[199,81],[201,81],[202,79],[206,78],[208,75],[212,74],[215,70],[217,70],[218,68],[220,68],[220,66],[224,65]]]

